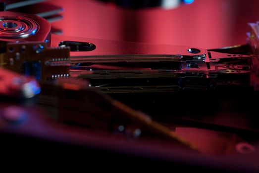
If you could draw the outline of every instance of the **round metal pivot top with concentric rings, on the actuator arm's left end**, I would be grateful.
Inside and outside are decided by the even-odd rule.
[[[0,17],[0,38],[2,39],[27,38],[37,33],[39,29],[39,24],[27,17]]]

